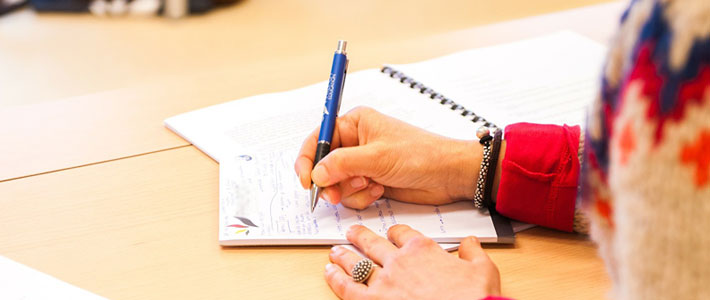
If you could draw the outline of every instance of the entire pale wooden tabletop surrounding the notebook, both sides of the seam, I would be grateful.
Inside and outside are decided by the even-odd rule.
[[[622,8],[596,5],[465,29],[571,4],[453,1],[413,9],[364,2],[345,13],[366,17],[351,22],[362,26],[342,30],[357,56],[353,70],[560,29],[604,42]],[[596,1],[574,5],[587,2]],[[330,62],[319,49],[331,49],[342,34],[331,29],[319,37],[319,25],[332,21],[318,19],[333,8],[321,5],[336,5],[329,3],[242,1],[176,24],[28,11],[0,18],[0,65],[11,71],[0,74],[0,255],[115,299],[333,298],[322,280],[327,248],[217,245],[217,164],[162,125],[184,111],[323,80]],[[279,9],[270,11],[274,5]],[[412,22],[421,11],[433,19]],[[273,20],[280,21],[267,22]],[[281,29],[289,48],[273,39]],[[140,47],[153,38],[163,40]],[[68,42],[85,47],[72,52]],[[128,54],[94,56],[112,47]],[[214,55],[171,65],[204,47]],[[163,52],[171,54],[163,59]],[[507,296],[600,299],[609,286],[593,245],[577,235],[533,229],[519,234],[515,247],[486,252]]]

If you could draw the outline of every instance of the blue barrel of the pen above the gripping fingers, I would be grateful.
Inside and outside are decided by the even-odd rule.
[[[345,54],[335,53],[333,55],[333,67],[328,78],[328,92],[325,97],[325,107],[323,108],[323,122],[321,123],[318,142],[328,142],[333,139],[335,130],[335,120],[340,110],[341,96],[343,94],[343,84],[348,67],[348,58]]]

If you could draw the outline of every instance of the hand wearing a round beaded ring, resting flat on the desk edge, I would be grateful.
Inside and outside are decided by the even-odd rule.
[[[362,257],[333,247],[325,278],[341,299],[482,299],[500,294],[498,268],[474,237],[461,241],[459,257],[407,225],[387,231],[390,241],[366,227],[350,227],[347,238],[379,266],[367,284],[351,270]],[[394,243],[394,244],[393,244]],[[380,267],[381,266],[381,267]]]

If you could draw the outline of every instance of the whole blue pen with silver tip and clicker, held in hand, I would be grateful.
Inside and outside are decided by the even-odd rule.
[[[328,93],[325,96],[325,108],[323,109],[323,121],[320,124],[318,134],[318,146],[316,146],[316,157],[313,166],[323,159],[330,152],[330,142],[333,140],[333,130],[335,130],[335,119],[340,110],[340,98],[343,95],[343,85],[345,84],[345,74],[348,71],[348,57],[345,47],[348,42],[338,41],[338,49],[333,55],[333,67],[330,69],[328,78]],[[316,209],[318,196],[322,188],[311,182],[311,212]]]

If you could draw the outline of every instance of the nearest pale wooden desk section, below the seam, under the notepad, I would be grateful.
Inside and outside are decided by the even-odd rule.
[[[112,299],[330,299],[328,247],[220,248],[218,166],[192,146],[0,183],[0,254]],[[489,247],[506,295],[601,299],[591,242]]]

